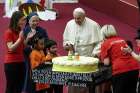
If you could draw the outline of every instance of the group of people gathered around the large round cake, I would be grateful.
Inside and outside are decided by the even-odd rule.
[[[25,17],[21,11],[14,12],[4,39],[4,69],[7,81],[5,93],[63,93],[62,85],[35,83],[31,79],[32,69],[60,56],[57,53],[57,42],[49,39],[47,31],[39,26],[37,13],[32,12]],[[140,34],[135,40],[140,50]],[[73,19],[66,24],[63,33],[63,47],[66,51],[81,56],[99,58],[102,64],[112,67],[108,91],[101,92],[101,88],[105,87],[102,85],[96,88],[70,86],[69,93],[140,92],[136,92],[140,56],[124,38],[118,36],[113,25],[101,27],[86,17],[84,9],[76,8]]]

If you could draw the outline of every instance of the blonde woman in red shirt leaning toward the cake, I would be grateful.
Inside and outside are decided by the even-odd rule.
[[[113,25],[105,25],[101,31],[105,39],[100,57],[104,65],[112,65],[113,93],[136,93],[138,62],[129,53],[122,51],[128,45],[117,36]]]

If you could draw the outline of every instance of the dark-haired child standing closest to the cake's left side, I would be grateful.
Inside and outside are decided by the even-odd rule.
[[[46,48],[47,48],[46,60],[50,62],[50,61],[52,61],[52,58],[58,56],[57,43],[53,40],[48,40],[48,41],[46,41]],[[63,86],[62,85],[52,84],[50,86],[50,89],[51,89],[51,93],[63,93]]]

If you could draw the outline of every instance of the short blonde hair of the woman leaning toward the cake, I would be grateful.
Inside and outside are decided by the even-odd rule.
[[[104,38],[117,36],[116,29],[115,29],[115,27],[113,25],[104,25],[101,28],[101,32],[102,32]]]

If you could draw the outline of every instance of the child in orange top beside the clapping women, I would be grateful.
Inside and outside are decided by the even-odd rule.
[[[44,38],[41,35],[35,35],[33,37],[33,50],[30,54],[30,64],[31,64],[31,69],[36,68],[40,64],[46,61],[46,57],[44,54]],[[47,88],[49,88],[48,84],[42,84],[42,83],[36,83],[35,84],[35,93],[46,93]]]

